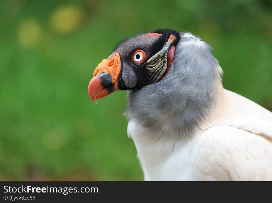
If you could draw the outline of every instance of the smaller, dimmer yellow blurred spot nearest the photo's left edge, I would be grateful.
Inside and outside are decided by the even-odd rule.
[[[18,42],[23,48],[38,44],[41,35],[40,24],[35,19],[25,19],[18,27]]]

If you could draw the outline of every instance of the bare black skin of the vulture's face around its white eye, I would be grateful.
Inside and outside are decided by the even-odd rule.
[[[156,37],[144,34],[137,35],[124,40],[117,45],[114,53],[119,53],[122,65],[120,75],[118,77],[118,88],[120,90],[140,89],[144,85],[147,85],[150,77],[146,70],[147,60],[163,48],[171,34],[176,37],[176,40],[174,40],[172,45],[176,46],[180,40],[180,34],[175,30],[163,29],[156,30],[152,33],[159,33],[161,36]],[[132,60],[132,54],[137,49],[141,49],[146,53],[146,59],[141,64],[138,64]],[[127,81],[126,83],[128,83],[128,81],[133,82],[134,87],[126,87],[123,76]]]

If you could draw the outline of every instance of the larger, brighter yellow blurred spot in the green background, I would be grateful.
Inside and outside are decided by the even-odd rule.
[[[58,34],[67,34],[79,27],[83,21],[83,16],[83,10],[77,6],[62,6],[54,11],[51,26]]]

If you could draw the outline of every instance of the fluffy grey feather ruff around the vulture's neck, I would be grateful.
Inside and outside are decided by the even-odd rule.
[[[211,47],[185,33],[180,36],[168,74],[159,82],[127,91],[125,116],[152,132],[171,130],[168,133],[181,135],[197,128],[212,111],[222,84],[223,71]]]

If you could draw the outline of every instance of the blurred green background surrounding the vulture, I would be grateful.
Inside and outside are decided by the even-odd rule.
[[[143,180],[124,91],[93,104],[96,65],[131,35],[189,31],[223,85],[272,110],[272,1],[0,1],[0,180]]]

